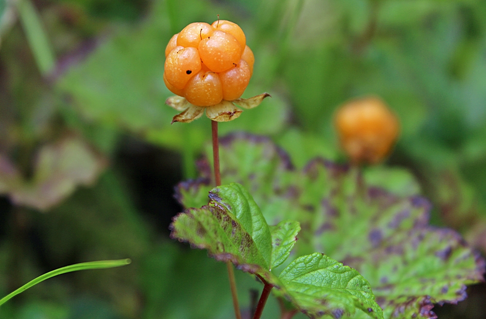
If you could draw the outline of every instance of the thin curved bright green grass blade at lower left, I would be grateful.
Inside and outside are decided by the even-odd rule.
[[[72,271],[78,271],[78,270],[88,270],[88,269],[105,269],[105,268],[114,268],[114,267],[120,267],[120,266],[125,266],[130,264],[132,261],[130,259],[120,259],[120,260],[101,260],[101,261],[91,261],[87,263],[80,263],[80,264],[74,264],[70,266],[66,266],[63,268],[55,269],[52,270],[48,273],[45,273],[34,280],[31,280],[27,284],[21,286],[14,292],[10,293],[9,295],[3,297],[0,299],[0,306],[7,302],[10,298],[18,295],[19,293],[29,289],[33,285],[37,285],[40,282],[43,282],[46,279],[52,278],[57,275],[61,275],[63,273],[67,272],[72,272]]]

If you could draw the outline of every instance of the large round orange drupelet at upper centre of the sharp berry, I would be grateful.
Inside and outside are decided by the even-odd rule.
[[[242,50],[233,35],[216,30],[199,43],[199,54],[211,71],[223,72],[240,61]]]

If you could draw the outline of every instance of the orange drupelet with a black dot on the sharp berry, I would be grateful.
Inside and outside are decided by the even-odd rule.
[[[182,90],[186,83],[201,70],[201,58],[196,48],[175,47],[165,59],[164,74],[176,89]]]

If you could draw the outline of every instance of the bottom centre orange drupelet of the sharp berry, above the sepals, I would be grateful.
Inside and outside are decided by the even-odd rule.
[[[197,106],[216,105],[223,100],[223,88],[217,73],[200,71],[184,88],[184,97]]]

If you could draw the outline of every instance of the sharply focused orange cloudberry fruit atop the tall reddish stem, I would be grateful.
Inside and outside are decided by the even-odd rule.
[[[167,88],[204,107],[239,99],[255,61],[243,30],[226,20],[189,24],[174,34],[165,55]]]

